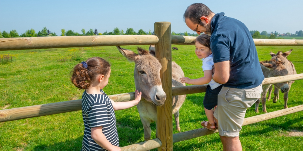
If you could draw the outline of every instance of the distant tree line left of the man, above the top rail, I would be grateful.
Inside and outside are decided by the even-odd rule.
[[[139,29],[138,32],[136,32],[133,28],[127,28],[125,33],[123,30],[120,30],[118,27],[114,28],[113,31],[107,32],[105,31],[104,33],[98,33],[98,30],[95,29],[93,30],[90,28],[88,31],[85,31],[85,29],[81,30],[81,34],[72,30],[66,31],[65,29],[61,29],[61,35],[59,36],[92,36],[92,35],[154,35],[155,32],[151,32],[149,30],[148,32]],[[190,34],[184,32],[184,33],[175,33],[172,32],[171,35],[182,35],[182,36],[198,36],[198,34]],[[25,33],[19,35],[16,30],[12,31],[0,31],[0,38],[13,38],[13,37],[50,37],[50,36],[58,36],[55,32],[49,31],[46,27],[43,27],[41,31],[36,31],[34,29],[30,29],[25,31]]]

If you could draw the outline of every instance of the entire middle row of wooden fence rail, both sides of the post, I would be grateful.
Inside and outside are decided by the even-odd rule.
[[[263,85],[274,84],[274,83],[281,83],[281,82],[300,80],[300,79],[303,79],[303,73],[288,75],[288,76],[265,78],[262,84]],[[206,91],[206,85],[172,87],[172,95],[186,95],[193,93],[202,93],[205,91]],[[115,102],[132,101],[135,99],[135,92],[109,95],[109,98],[111,98]],[[0,110],[0,122],[7,122],[12,120],[20,120],[25,118],[39,117],[39,116],[66,113],[66,112],[79,111],[79,110],[81,110],[81,100],[72,100],[72,101],[56,102],[50,104],[27,106],[21,108],[5,109],[5,110]]]

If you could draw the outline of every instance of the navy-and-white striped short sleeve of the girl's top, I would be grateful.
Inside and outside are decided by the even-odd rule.
[[[89,123],[92,127],[99,127],[108,124],[107,106],[103,103],[95,103],[88,111]]]

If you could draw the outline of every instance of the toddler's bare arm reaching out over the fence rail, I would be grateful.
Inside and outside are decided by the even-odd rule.
[[[188,77],[180,78],[182,83],[192,84],[192,85],[204,85],[211,81],[212,70],[205,70],[204,77],[198,79],[189,79]]]

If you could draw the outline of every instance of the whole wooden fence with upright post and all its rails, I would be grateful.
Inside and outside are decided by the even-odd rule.
[[[173,143],[201,137],[216,131],[199,128],[181,133],[172,133],[172,96],[205,92],[206,85],[171,86],[171,44],[195,45],[196,37],[172,36],[169,22],[156,22],[155,35],[115,35],[115,36],[62,36],[62,37],[23,37],[0,38],[0,51],[28,50],[66,47],[96,47],[122,45],[155,44],[156,57],[162,65],[160,77],[162,88],[167,95],[165,104],[157,107],[158,138],[142,143],[121,147],[122,150],[172,150]],[[254,39],[256,46],[303,46],[303,40]],[[303,79],[303,74],[265,78],[262,84],[275,84]],[[134,92],[109,96],[113,101],[134,100]],[[81,100],[64,101],[50,104],[34,105],[21,108],[0,110],[0,122],[20,120],[31,117],[59,114],[81,110]],[[261,114],[244,119],[244,125],[303,111],[303,105]],[[165,116],[161,116],[165,114]]]

